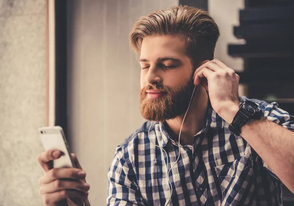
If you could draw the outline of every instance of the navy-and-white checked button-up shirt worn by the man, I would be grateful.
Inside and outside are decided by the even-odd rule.
[[[265,118],[294,131],[294,116],[276,102],[249,100],[260,105]],[[150,124],[145,122],[117,147],[108,171],[107,206],[164,206],[168,199],[167,157],[150,143]],[[180,147],[179,160],[170,172],[170,206],[282,205],[280,180],[228,126],[209,103],[206,127],[194,136],[194,146]],[[160,122],[153,122],[149,136],[167,152],[170,169],[179,154],[177,142]]]

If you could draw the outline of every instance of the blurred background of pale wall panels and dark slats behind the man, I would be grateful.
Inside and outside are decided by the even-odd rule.
[[[215,58],[241,95],[294,114],[293,0],[0,0],[0,206],[40,206],[37,129],[60,125],[105,205],[115,148],[145,121],[140,65],[128,33],[172,5],[207,10],[221,31]],[[284,205],[293,205],[284,188]]]

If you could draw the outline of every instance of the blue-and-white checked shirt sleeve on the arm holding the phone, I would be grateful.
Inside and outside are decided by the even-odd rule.
[[[132,168],[118,146],[108,170],[106,206],[144,206]]]

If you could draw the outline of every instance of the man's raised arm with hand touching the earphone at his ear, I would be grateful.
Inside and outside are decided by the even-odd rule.
[[[231,123],[239,110],[239,76],[218,59],[202,63],[195,71],[194,84],[206,89],[213,109]],[[265,118],[242,127],[241,136],[294,193],[294,117],[270,105],[264,108]]]

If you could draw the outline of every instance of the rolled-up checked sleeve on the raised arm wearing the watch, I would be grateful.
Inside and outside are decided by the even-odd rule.
[[[281,108],[278,108],[278,104],[276,102],[273,102],[268,105],[261,105],[261,109],[264,110],[263,116],[270,121],[294,132],[294,116],[290,115],[285,110],[282,110]],[[274,178],[280,181],[280,179],[272,172],[270,167],[264,160],[262,160],[263,166],[268,170],[270,175],[272,175]]]

